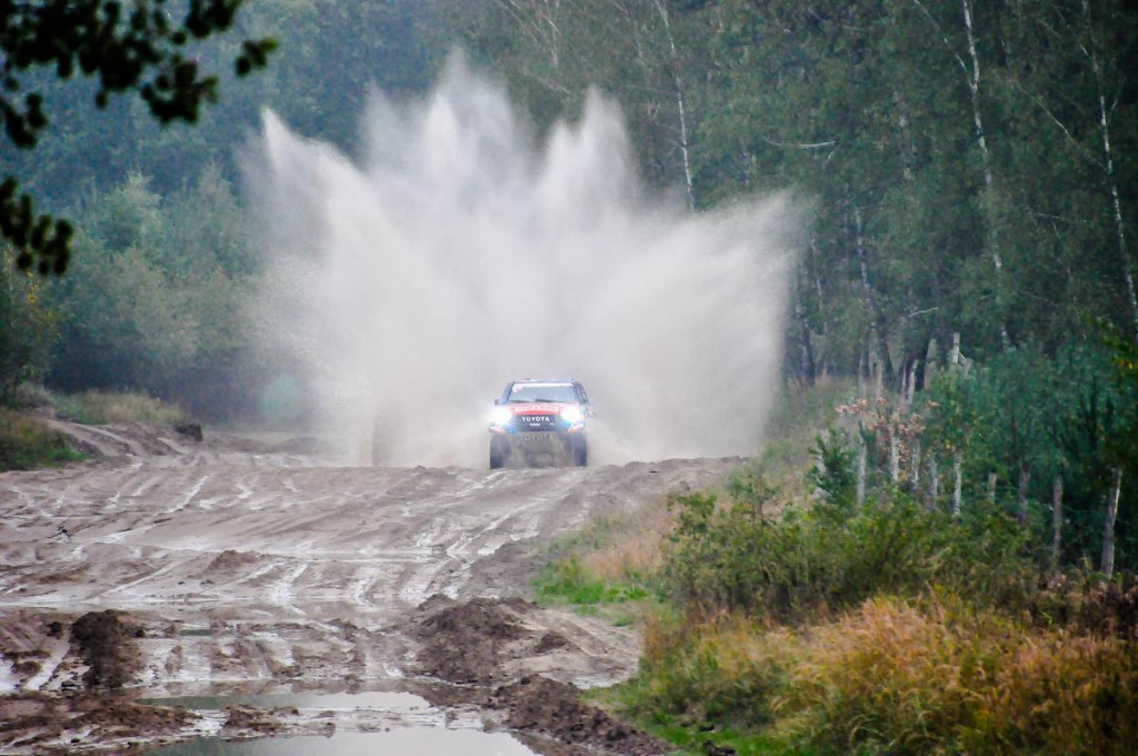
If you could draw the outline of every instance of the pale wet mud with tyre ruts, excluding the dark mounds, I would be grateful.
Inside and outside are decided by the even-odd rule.
[[[139,628],[147,696],[393,684],[431,597],[523,594],[545,541],[737,463],[361,468],[217,449],[0,474],[0,701],[81,687],[66,628],[106,609]],[[587,683],[635,664],[628,628],[526,622],[568,642],[517,674]]]

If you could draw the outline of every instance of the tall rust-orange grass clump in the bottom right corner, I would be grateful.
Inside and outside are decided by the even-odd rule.
[[[1123,754],[1138,654],[1032,631],[955,599],[874,599],[815,628],[784,707],[823,753]]]

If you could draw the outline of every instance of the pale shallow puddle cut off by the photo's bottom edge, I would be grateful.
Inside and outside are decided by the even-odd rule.
[[[150,756],[536,756],[504,732],[407,728],[331,737],[223,741],[205,738],[149,751]]]

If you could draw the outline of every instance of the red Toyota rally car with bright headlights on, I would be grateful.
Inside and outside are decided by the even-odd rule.
[[[588,463],[585,427],[593,417],[580,381],[512,380],[490,416],[490,469],[510,460],[529,463],[538,458]]]

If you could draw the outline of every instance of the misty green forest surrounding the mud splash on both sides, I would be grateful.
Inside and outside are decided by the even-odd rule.
[[[263,270],[234,148],[272,108],[352,155],[369,88],[423,96],[457,47],[538,133],[589,87],[613,97],[644,180],[695,211],[787,188],[811,204],[784,378],[858,387],[831,445],[858,498],[995,502],[1041,562],[1133,569],[1133,28],[1121,0],[247,3],[200,58],[280,49],[223,75],[192,126],[39,81],[51,125],[0,159],[76,222],[74,258],[51,279],[5,252],[0,385],[274,419],[289,367],[241,317]]]

